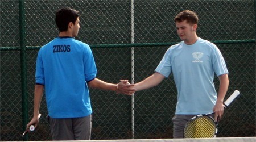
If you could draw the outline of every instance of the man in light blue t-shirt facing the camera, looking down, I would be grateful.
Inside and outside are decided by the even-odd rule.
[[[183,40],[172,45],[155,69],[155,73],[135,84],[136,91],[158,85],[171,73],[177,88],[174,138],[183,137],[185,123],[193,116],[216,112],[224,113],[223,99],[229,86],[228,69],[220,50],[196,34],[198,17],[185,10],[175,17],[177,34]],[[214,88],[214,73],[220,80],[218,94]]]

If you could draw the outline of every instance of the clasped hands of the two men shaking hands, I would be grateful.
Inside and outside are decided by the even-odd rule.
[[[128,80],[120,80],[120,82],[117,84],[117,94],[133,95],[135,91],[136,89],[134,84],[130,84]]]

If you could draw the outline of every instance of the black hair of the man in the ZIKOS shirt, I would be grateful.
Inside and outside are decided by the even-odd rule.
[[[60,9],[56,12],[55,22],[60,32],[68,30],[68,24],[72,22],[76,23],[77,17],[79,17],[79,11],[71,9],[69,7]]]

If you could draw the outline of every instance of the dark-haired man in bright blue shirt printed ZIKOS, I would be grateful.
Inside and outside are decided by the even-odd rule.
[[[36,60],[34,117],[27,124],[39,123],[43,91],[51,126],[52,140],[90,140],[91,114],[88,87],[130,95],[127,80],[118,84],[96,78],[96,64],[88,44],[76,40],[80,28],[78,11],[64,8],[56,12],[59,36],[44,45]]]

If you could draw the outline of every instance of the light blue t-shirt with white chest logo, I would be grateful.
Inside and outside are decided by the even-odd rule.
[[[171,46],[155,72],[166,78],[173,73],[178,93],[175,114],[205,114],[217,101],[214,73],[220,76],[228,69],[216,45],[199,38],[193,45],[182,41]]]

